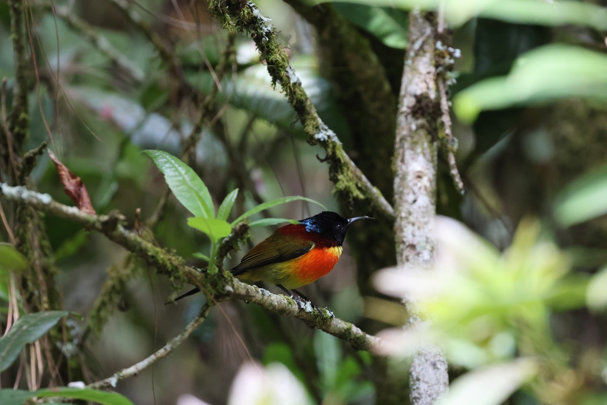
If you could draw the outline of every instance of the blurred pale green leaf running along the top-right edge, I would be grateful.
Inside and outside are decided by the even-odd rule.
[[[541,0],[333,0],[401,9],[437,10],[450,27],[458,27],[475,16],[500,19],[521,24],[563,26],[577,24],[599,30],[607,29],[607,9],[573,0],[558,2]],[[316,0],[324,3],[326,0]]]

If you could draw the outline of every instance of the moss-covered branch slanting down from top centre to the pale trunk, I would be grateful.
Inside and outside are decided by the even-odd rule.
[[[337,135],[320,119],[310,98],[306,94],[295,70],[290,66],[287,53],[277,40],[270,19],[263,16],[253,2],[240,0],[212,0],[209,10],[230,31],[246,32],[255,42],[261,58],[265,60],[272,83],[280,84],[293,107],[297,120],[304,126],[308,142],[322,146],[330,160],[330,177],[335,191],[350,198],[367,199],[378,213],[388,219],[394,218],[394,210],[381,192],[354,165],[342,148]]]

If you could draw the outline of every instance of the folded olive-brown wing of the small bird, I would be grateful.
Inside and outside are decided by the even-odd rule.
[[[314,242],[311,242],[311,240],[302,240],[274,233],[249,250],[240,264],[232,268],[231,271],[234,276],[239,276],[253,268],[295,259],[304,253],[308,253],[313,247]]]

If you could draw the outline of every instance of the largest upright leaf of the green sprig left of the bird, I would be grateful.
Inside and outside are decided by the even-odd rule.
[[[167,152],[151,149],[144,152],[154,160],[177,200],[189,212],[196,217],[215,217],[215,206],[211,194],[192,168]]]

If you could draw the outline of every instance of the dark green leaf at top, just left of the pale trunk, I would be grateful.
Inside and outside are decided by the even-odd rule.
[[[407,14],[402,10],[339,2],[333,6],[338,13],[371,33],[385,46],[396,49],[407,47]]]

